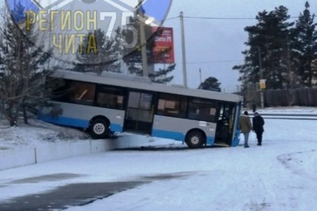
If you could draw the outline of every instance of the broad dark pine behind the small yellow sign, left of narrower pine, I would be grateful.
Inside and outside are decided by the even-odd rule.
[[[266,79],[268,88],[282,89],[288,86],[287,39],[293,23],[287,22],[287,11],[284,6],[270,12],[264,10],[256,16],[256,25],[244,28],[249,35],[245,43],[249,49],[242,52],[245,56],[244,64],[233,68],[240,72],[239,80],[242,81],[244,89],[259,82],[260,59],[262,79]]]

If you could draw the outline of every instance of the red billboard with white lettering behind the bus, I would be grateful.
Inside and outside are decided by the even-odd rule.
[[[161,30],[160,35],[155,38],[153,48],[154,63],[174,64],[174,38],[173,28],[152,27],[152,32]]]

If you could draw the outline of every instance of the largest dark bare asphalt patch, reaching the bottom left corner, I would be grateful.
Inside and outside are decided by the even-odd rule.
[[[0,204],[1,211],[62,210],[82,206],[113,194],[134,188],[148,181],[75,183],[53,191],[11,198]]]

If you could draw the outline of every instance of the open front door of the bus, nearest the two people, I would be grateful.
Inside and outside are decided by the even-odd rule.
[[[216,144],[231,146],[234,132],[235,106],[232,103],[218,103],[218,122],[216,129]]]

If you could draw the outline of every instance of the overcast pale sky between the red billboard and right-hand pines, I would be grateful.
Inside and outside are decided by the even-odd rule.
[[[304,10],[304,0],[173,0],[168,17],[178,16],[180,11],[184,16],[201,17],[255,17],[259,11],[271,11],[280,5],[289,9],[290,16],[298,16]],[[317,3],[308,1],[310,11],[317,13]],[[297,20],[297,18],[292,18]],[[316,22],[316,21],[315,21]],[[225,91],[237,90],[238,71],[232,67],[243,62],[241,51],[246,49],[244,42],[247,33],[244,27],[255,25],[256,20],[216,20],[185,18],[185,41],[187,59],[188,87],[197,88],[200,83],[199,68],[202,70],[202,80],[214,76],[222,83]],[[174,72],[173,83],[182,84],[181,35],[179,18],[168,20],[165,26],[174,28],[175,56],[177,70]]]

